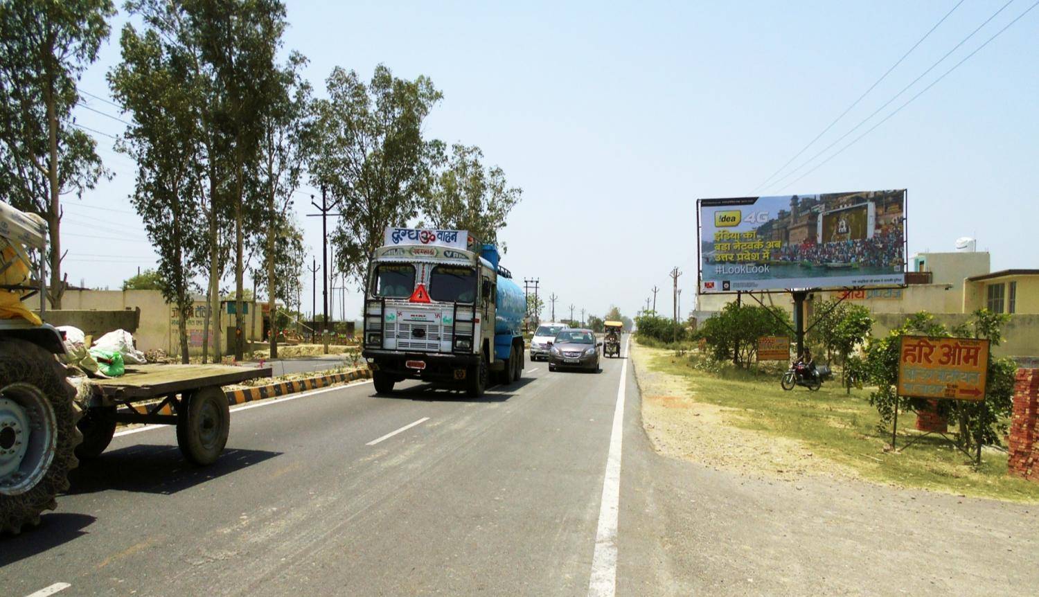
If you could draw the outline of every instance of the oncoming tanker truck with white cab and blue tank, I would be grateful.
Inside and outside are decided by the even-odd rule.
[[[467,230],[390,227],[365,284],[364,348],[375,390],[420,379],[483,395],[523,374],[523,291],[498,248]]]

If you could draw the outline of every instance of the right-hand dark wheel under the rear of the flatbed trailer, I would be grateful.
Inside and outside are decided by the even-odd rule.
[[[209,386],[190,395],[187,405],[181,401],[177,416],[177,444],[184,457],[195,464],[216,462],[228,444],[231,409],[218,386]]]

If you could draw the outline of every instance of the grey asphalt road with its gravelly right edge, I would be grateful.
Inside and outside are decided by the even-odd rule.
[[[662,457],[627,358],[603,359],[600,374],[545,364],[482,400],[420,383],[377,397],[363,382],[243,405],[206,468],[184,462],[171,428],[116,437],[39,527],[0,538],[0,595],[1016,596],[1039,586],[1035,505]]]

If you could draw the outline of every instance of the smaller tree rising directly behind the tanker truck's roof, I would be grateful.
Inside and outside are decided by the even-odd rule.
[[[438,171],[426,189],[422,212],[434,227],[469,230],[485,243],[498,244],[498,232],[520,202],[523,189],[509,187],[499,166],[484,168],[483,153],[476,145],[455,143],[451,156],[434,144],[433,163]],[[502,252],[507,247],[502,245]]]

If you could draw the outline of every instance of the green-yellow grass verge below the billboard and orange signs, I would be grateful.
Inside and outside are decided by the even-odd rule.
[[[927,436],[905,447],[917,435],[913,413],[899,416],[898,444],[904,450],[885,451],[890,433],[878,431],[879,416],[868,401],[868,390],[852,389],[848,396],[829,382],[816,392],[804,387],[783,391],[778,374],[705,372],[696,367],[698,355],[678,356],[672,350],[644,346],[636,358],[644,359],[650,371],[681,378],[691,400],[725,408],[726,423],[797,440],[816,456],[850,467],[861,478],[962,495],[1039,501],[1039,484],[1009,477],[1007,455],[1002,452],[985,450],[976,469],[940,436]]]

